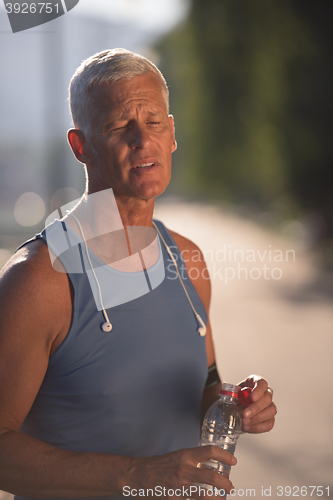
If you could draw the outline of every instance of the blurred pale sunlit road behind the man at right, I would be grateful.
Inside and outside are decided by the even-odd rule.
[[[273,431],[239,439],[234,498],[332,496],[332,276],[296,240],[216,208],[162,201],[155,217],[204,251],[223,380],[258,373],[274,389]]]

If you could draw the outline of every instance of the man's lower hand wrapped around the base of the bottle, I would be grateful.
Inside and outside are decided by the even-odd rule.
[[[148,488],[155,492],[156,486],[159,486],[165,488],[163,496],[174,500],[179,500],[180,497],[206,498],[204,491],[201,491],[199,495],[199,487],[194,486],[197,483],[210,484],[230,493],[233,485],[229,479],[218,472],[198,468],[200,463],[209,460],[217,460],[228,465],[237,463],[231,453],[212,445],[183,449],[149,458],[129,458],[125,484],[131,490],[137,490],[137,495],[140,489],[148,494],[146,493]],[[173,495],[172,492],[174,492]]]

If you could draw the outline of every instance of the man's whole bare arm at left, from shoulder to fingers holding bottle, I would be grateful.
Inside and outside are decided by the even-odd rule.
[[[52,269],[43,242],[30,243],[4,268],[0,304],[0,489],[63,498],[122,494],[123,486],[175,489],[199,482],[230,491],[230,481],[196,467],[211,458],[235,463],[215,447],[131,458],[61,450],[19,432],[49,357],[71,323],[69,280]]]

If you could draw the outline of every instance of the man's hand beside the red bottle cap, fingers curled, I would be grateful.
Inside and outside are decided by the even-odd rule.
[[[243,410],[243,430],[245,432],[268,432],[274,426],[277,409],[272,401],[273,390],[258,375],[250,375],[243,380],[240,387],[251,387],[252,403]]]

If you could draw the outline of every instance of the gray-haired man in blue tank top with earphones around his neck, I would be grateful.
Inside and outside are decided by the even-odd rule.
[[[181,252],[198,249],[153,221],[176,149],[165,80],[147,59],[107,50],[77,69],[70,105],[68,140],[85,165],[86,192],[16,252],[0,281],[0,489],[17,498],[158,486],[186,496],[194,483],[229,492],[229,479],[197,467],[236,463],[197,446],[200,410],[221,388],[205,263],[187,258],[198,279],[174,279],[174,269],[171,279]],[[72,245],[61,253],[64,234]],[[74,269],[73,249],[83,271]],[[165,275],[154,284],[161,262]],[[148,290],[125,286],[119,299],[139,275]],[[109,300],[112,281],[120,285]],[[250,376],[241,384],[252,388],[243,430],[269,431],[276,408],[267,382]]]

